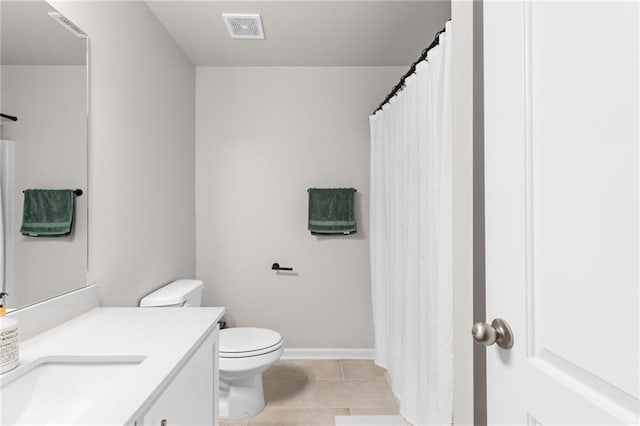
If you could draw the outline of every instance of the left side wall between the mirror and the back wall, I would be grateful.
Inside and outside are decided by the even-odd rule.
[[[89,270],[104,306],[195,274],[195,69],[144,2],[50,1],[89,35]]]

